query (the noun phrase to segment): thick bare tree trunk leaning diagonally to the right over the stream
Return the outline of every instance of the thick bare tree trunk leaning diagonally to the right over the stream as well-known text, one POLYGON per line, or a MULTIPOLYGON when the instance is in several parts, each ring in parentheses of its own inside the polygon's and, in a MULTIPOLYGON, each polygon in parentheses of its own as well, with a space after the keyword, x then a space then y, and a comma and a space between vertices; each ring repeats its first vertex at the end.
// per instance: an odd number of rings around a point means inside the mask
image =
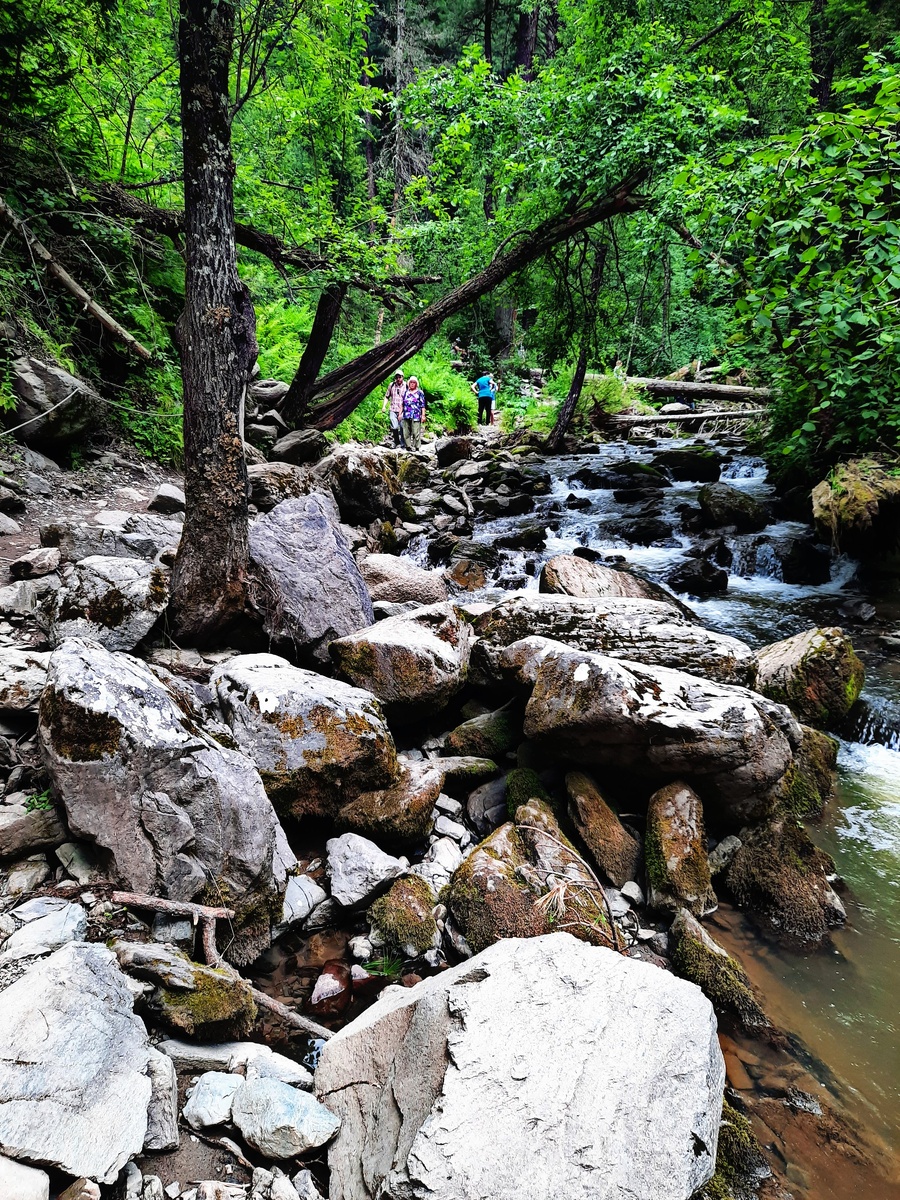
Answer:
POLYGON ((647 175, 648 169, 637 172, 602 199, 582 206, 570 205, 568 210, 557 214, 535 229, 514 234, 512 250, 496 254, 482 271, 428 305, 386 342, 373 346, 365 354, 323 376, 312 389, 312 398, 318 396, 330 398, 312 410, 307 424, 319 430, 332 430, 349 416, 373 388, 420 350, 448 317, 480 300, 510 275, 521 271, 568 238, 590 229, 601 221, 608 221, 618 214, 635 212, 643 208, 643 198, 635 192, 647 175))

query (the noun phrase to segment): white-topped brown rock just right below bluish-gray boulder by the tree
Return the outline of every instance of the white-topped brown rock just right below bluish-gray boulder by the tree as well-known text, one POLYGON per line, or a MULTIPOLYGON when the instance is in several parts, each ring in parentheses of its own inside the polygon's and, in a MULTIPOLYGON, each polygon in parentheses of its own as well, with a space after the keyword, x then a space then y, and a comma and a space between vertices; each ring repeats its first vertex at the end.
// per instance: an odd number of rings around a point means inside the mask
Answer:
POLYGON ((331 643, 338 672, 392 709, 416 715, 444 708, 466 682, 472 626, 452 605, 389 617, 331 643))

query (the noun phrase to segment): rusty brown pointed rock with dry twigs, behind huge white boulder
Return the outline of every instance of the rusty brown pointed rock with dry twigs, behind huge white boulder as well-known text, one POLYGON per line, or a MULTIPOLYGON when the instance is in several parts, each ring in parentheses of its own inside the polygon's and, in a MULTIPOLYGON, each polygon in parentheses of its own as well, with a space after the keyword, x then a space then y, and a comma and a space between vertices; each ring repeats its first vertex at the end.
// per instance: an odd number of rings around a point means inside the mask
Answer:
POLYGON ((552 810, 532 799, 490 834, 454 872, 448 908, 478 953, 503 937, 553 928, 608 946, 602 896, 552 810))

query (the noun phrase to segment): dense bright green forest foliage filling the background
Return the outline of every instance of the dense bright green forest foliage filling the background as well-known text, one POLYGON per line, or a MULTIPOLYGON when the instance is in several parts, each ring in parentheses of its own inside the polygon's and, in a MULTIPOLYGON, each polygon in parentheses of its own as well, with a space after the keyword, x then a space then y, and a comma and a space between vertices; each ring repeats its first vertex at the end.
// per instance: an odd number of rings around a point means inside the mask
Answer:
MULTIPOLYGON (((5 319, 102 379, 161 455, 180 436, 178 25, 164 0, 0 7, 5 319)), ((894 449, 899 62, 889 0, 240 0, 259 368, 294 380, 295 421, 366 434, 410 358, 440 420, 470 416, 451 344, 514 409, 529 367, 562 397, 582 348, 641 376, 700 360, 778 389, 793 460, 894 449)))

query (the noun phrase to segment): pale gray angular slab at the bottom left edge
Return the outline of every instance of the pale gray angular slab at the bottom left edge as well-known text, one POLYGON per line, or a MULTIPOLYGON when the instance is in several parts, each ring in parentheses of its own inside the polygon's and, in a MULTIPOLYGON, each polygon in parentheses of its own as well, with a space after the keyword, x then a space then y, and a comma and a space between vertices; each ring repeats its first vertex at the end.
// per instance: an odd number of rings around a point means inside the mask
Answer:
POLYGON ((112 1183, 144 1144, 149 1058, 110 950, 35 964, 0 992, 0 1153, 112 1183))

